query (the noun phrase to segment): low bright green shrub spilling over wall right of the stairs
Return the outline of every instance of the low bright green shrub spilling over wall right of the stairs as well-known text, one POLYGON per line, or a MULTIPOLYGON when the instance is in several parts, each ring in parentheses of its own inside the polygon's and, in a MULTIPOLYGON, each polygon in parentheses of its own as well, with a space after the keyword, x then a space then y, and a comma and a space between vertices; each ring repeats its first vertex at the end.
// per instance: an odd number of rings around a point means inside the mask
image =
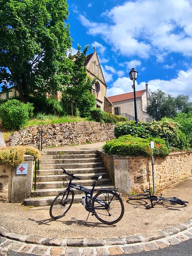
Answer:
MULTIPOLYGON (((142 139, 131 135, 120 136, 118 139, 107 141, 103 146, 108 155, 116 154, 118 156, 152 156, 150 141, 152 138, 142 139)), ((169 149, 162 139, 152 139, 155 142, 153 150, 154 156, 166 156, 169 149)))

